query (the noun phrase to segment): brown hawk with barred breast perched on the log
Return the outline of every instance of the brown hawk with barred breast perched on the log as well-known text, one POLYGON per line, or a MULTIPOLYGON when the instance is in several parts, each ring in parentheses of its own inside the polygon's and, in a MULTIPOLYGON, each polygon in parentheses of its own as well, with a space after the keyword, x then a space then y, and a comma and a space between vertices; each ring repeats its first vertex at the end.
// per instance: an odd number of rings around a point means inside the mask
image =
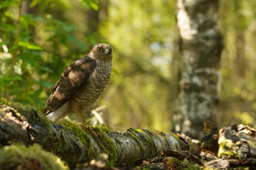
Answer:
POLYGON ((94 106, 112 71, 112 47, 100 43, 89 54, 72 62, 53 87, 43 113, 57 122, 67 115, 77 115, 86 125, 84 113, 94 106))

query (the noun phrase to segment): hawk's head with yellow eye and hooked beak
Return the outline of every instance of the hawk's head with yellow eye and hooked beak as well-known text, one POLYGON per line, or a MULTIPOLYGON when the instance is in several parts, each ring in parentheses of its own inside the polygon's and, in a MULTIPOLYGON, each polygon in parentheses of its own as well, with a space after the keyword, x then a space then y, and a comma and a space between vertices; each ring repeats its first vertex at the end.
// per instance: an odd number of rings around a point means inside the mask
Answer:
POLYGON ((104 62, 112 61, 112 47, 105 43, 100 43, 92 47, 90 51, 90 57, 95 60, 100 60, 104 62))

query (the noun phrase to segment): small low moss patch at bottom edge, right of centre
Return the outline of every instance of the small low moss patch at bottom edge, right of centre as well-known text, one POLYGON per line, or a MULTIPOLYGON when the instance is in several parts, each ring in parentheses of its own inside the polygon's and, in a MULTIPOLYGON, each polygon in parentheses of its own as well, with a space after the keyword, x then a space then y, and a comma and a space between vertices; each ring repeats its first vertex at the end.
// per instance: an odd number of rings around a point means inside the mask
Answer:
POLYGON ((200 166, 194 162, 189 162, 188 159, 180 161, 174 157, 166 157, 165 159, 166 169, 177 169, 177 170, 200 170, 200 166))

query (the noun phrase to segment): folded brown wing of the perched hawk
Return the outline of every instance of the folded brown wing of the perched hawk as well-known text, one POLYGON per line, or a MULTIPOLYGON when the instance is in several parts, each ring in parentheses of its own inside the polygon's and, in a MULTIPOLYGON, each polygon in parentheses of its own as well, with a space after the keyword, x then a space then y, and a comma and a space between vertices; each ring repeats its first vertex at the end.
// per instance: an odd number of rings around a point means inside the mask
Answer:
POLYGON ((90 72, 95 67, 96 61, 87 55, 71 63, 53 87, 43 113, 47 115, 69 101, 87 83, 90 72))

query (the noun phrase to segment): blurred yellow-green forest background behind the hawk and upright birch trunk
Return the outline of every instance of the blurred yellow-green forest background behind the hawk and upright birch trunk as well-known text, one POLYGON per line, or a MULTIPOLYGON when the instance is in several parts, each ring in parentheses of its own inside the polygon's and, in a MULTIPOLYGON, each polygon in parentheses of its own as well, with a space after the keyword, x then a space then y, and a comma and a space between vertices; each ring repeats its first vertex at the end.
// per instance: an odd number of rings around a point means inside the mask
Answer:
MULTIPOLYGON (((65 67, 97 42, 113 47, 105 123, 171 130, 178 96, 176 1, 0 0, 0 97, 43 109, 65 67)), ((220 0, 219 126, 256 120, 256 1, 220 0)), ((256 128, 256 127, 255 127, 256 128)))

